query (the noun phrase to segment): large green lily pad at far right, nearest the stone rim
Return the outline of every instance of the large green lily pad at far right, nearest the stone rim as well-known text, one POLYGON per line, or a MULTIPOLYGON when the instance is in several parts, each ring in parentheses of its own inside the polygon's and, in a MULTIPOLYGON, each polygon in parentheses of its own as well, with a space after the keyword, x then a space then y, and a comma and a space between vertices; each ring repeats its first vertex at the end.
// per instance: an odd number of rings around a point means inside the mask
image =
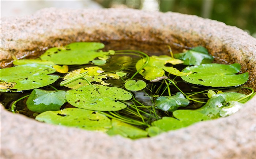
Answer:
POLYGON ((249 73, 245 72, 235 75, 241 69, 240 64, 201 64, 192 67, 186 67, 183 72, 192 72, 190 75, 181 76, 182 80, 201 86, 211 87, 232 87, 244 84, 249 73))

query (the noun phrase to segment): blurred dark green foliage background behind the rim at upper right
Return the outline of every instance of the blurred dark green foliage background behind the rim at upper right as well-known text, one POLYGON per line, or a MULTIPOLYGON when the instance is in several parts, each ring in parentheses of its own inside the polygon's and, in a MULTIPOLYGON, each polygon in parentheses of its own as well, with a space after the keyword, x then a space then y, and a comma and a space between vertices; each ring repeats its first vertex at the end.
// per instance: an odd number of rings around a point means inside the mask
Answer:
POLYGON ((256 37, 256 0, 94 0, 104 8, 179 12, 222 21, 256 37))

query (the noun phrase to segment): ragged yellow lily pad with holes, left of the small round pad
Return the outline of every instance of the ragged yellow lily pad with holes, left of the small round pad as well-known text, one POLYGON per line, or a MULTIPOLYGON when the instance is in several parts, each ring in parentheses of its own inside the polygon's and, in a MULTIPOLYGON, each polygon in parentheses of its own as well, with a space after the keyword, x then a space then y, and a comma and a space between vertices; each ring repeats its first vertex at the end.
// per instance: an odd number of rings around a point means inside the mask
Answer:
MULTIPOLYGON (((101 84, 104 86, 108 86, 109 83, 105 83, 104 81, 105 79, 108 79, 108 77, 111 77, 112 79, 119 79, 119 76, 116 75, 115 73, 105 73, 102 68, 96 66, 96 67, 85 67, 81 69, 76 69, 68 73, 64 77, 64 80, 70 79, 71 77, 74 77, 86 71, 88 71, 88 73, 84 76, 84 78, 86 78, 89 82, 93 82, 94 84, 101 84)), ((86 82, 86 80, 78 79, 74 82, 71 82, 65 85, 65 87, 77 89, 87 85, 89 84, 86 82)))

